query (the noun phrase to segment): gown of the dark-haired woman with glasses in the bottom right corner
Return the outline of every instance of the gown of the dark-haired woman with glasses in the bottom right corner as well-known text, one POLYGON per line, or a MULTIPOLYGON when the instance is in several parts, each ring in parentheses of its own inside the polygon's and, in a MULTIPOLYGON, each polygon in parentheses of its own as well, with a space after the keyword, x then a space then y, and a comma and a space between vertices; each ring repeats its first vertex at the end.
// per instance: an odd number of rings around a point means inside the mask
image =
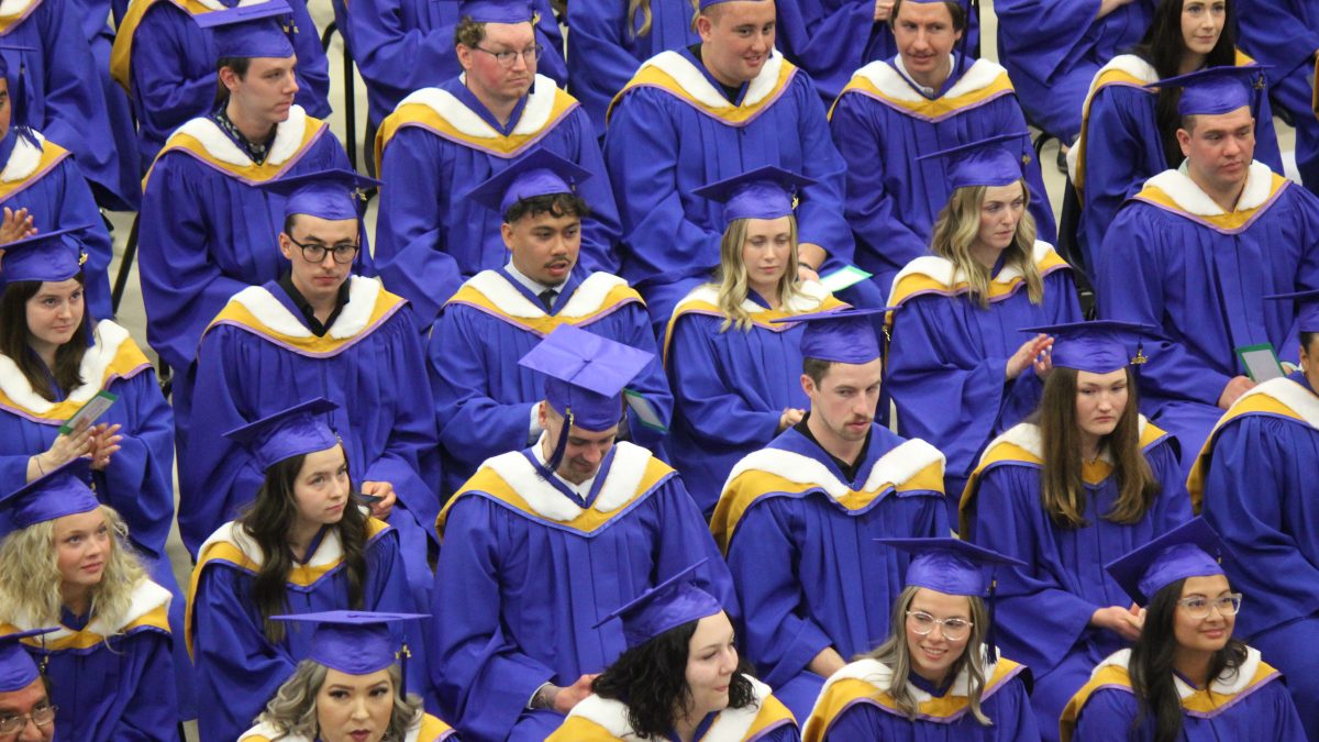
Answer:
MULTIPOLYGON (((1153 714, 1141 708, 1132 689, 1129 661, 1129 650, 1122 650, 1095 668, 1089 683, 1076 693, 1063 713, 1064 742, 1108 741, 1115 738, 1117 730, 1130 730, 1128 734, 1132 739, 1154 738, 1155 721, 1153 714)), ((1220 677, 1210 688, 1194 688, 1181 677, 1175 683, 1182 697, 1179 739, 1306 742, 1301 717, 1287 696, 1282 676, 1262 661, 1260 651, 1253 647, 1236 675, 1220 677)))

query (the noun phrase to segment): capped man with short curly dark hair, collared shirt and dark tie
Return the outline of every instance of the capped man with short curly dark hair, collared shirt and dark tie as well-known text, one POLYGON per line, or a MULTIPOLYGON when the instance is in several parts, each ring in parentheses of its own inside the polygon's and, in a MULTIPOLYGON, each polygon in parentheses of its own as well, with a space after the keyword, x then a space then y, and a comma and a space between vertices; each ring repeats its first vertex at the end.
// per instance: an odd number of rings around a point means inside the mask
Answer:
POLYGON ((509 260, 468 279, 445 304, 427 341, 445 495, 462 487, 480 462, 541 437, 545 383, 517 360, 559 325, 656 355, 633 388, 658 417, 642 420, 629 411, 628 437, 662 455, 673 395, 645 304, 623 279, 578 265, 582 222, 590 215, 579 191, 590 177, 547 149, 533 149, 468 194, 503 217, 509 260))

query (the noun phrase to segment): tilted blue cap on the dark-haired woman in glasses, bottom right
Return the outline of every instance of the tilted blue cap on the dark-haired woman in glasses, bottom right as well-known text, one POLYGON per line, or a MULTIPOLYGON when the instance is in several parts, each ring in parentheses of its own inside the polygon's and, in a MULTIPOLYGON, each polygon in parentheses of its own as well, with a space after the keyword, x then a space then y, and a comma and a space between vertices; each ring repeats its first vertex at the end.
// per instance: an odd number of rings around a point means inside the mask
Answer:
POLYGON ((1191 519, 1104 566, 1126 594, 1149 605, 1155 593, 1178 580, 1223 574, 1223 539, 1203 518, 1191 519))

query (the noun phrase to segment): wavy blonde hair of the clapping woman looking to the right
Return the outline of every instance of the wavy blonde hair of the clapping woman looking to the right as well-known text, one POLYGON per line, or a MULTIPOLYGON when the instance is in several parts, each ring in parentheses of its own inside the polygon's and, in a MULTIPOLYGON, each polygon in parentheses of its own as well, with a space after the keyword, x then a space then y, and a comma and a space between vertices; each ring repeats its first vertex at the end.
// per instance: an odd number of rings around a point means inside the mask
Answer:
MULTIPOLYGON (((1035 267, 1035 218, 1030 215, 1030 189, 1026 181, 1017 181, 1025 198, 1021 220, 1012 244, 1004 251, 1004 268, 1014 267, 1026 280, 1026 294, 1030 304, 1045 300, 1045 280, 1035 267)), ((952 191, 948 203, 939 211, 934 223, 934 239, 930 251, 952 263, 955 275, 966 279, 967 290, 981 309, 989 306, 989 269, 971 256, 971 244, 980 235, 980 207, 984 205, 985 186, 967 186, 952 191)))

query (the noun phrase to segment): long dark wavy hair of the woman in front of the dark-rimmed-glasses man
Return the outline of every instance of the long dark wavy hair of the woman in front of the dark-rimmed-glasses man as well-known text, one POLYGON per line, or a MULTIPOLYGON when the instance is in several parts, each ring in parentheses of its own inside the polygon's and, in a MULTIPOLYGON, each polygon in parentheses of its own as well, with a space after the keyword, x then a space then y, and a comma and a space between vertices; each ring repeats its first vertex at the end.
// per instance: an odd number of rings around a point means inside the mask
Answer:
MULTIPOLYGON (((293 485, 306 458, 305 454, 289 457, 266 469, 256 502, 237 520, 261 549, 262 562, 252 581, 252 598, 270 642, 284 640, 284 623, 270 621, 270 617, 289 611, 289 572, 293 570, 289 531, 298 516, 293 485)), ((367 516, 350 499, 343 508, 343 519, 331 525, 331 529, 339 533, 339 543, 343 545, 344 577, 348 581, 346 607, 361 610, 363 585, 367 581, 367 516)))

